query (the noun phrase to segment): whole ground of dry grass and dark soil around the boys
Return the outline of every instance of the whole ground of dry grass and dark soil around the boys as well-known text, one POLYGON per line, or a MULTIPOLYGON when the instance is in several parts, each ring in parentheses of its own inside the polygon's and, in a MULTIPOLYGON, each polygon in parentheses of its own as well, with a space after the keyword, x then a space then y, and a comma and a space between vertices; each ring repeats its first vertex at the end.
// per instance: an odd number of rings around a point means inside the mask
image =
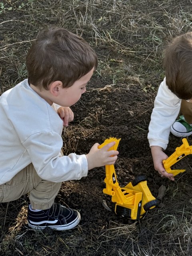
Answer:
MULTIPOLYGON (((117 216, 105 187, 104 168, 80 181, 64 182, 57 202, 80 210, 80 225, 56 232, 27 226, 28 196, 0 204, 3 256, 191 256, 191 157, 175 182, 154 171, 147 132, 158 85, 162 50, 172 37, 191 31, 190 0, 0 0, 0 94, 27 77, 25 56, 45 26, 68 28, 96 50, 99 66, 88 92, 73 106, 63 131, 64 154, 86 154, 109 136, 121 138, 115 164, 120 186, 145 175, 160 205, 135 222, 117 216), (106 201, 108 208, 102 202, 106 201)), ((189 144, 192 139, 188 138, 189 144)), ((181 140, 170 136, 168 155, 181 140)))

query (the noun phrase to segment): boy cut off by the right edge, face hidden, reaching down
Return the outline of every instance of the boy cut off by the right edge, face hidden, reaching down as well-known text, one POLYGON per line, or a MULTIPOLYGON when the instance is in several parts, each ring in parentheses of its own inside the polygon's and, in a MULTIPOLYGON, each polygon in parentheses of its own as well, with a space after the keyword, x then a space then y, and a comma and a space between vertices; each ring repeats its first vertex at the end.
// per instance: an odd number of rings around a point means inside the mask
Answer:
POLYGON ((178 137, 192 134, 192 32, 176 37, 164 56, 166 77, 160 84, 149 124, 148 140, 154 168, 161 176, 174 180, 162 161, 170 131, 178 137), (174 122, 179 114, 183 116, 174 122), (188 123, 189 124, 188 124, 188 123))

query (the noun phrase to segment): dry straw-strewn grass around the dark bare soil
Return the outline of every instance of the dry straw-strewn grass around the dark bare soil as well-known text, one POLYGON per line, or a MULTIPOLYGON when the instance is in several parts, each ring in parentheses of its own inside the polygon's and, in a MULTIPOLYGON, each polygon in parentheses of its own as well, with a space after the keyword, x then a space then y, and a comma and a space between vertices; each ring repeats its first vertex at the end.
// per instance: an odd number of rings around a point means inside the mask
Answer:
MULTIPOLYGON (((94 90, 123 92, 139 85, 147 93, 157 90, 164 77, 161 62, 166 42, 192 29, 191 1, 0 0, 0 94, 26 78, 27 48, 38 31, 50 25, 83 36, 96 50, 99 66, 94 79, 106 85, 98 84, 94 90)), ((100 120, 108 118, 101 107, 87 112, 78 126, 79 138, 95 136, 100 120)), ((66 153, 78 148, 75 129, 64 130, 66 153)), ((84 226, 63 233, 30 230, 26 197, 1 204, 0 255, 190 256, 192 200, 190 193, 182 192, 176 183, 168 188, 166 206, 144 217, 143 224, 110 221, 91 232, 84 226)))

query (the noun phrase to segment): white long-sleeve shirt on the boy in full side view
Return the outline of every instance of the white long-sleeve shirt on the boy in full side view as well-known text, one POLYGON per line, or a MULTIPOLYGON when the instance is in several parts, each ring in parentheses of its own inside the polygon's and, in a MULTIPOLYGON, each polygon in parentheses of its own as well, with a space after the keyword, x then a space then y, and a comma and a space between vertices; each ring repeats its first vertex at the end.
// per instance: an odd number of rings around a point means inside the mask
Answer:
POLYGON ((63 121, 24 80, 0 96, 0 184, 32 163, 44 180, 87 176, 85 155, 61 156, 63 121))

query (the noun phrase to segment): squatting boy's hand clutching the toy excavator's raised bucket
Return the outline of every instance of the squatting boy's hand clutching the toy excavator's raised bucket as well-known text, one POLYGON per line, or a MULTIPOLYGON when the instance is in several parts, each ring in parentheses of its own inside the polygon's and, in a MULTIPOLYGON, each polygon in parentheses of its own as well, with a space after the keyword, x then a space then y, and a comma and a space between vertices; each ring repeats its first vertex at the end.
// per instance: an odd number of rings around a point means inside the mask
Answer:
POLYGON ((119 154, 117 150, 109 150, 114 144, 115 142, 110 142, 100 149, 98 148, 98 143, 94 144, 90 149, 90 152, 86 155, 88 170, 95 167, 114 164, 117 160, 117 155, 119 154))

